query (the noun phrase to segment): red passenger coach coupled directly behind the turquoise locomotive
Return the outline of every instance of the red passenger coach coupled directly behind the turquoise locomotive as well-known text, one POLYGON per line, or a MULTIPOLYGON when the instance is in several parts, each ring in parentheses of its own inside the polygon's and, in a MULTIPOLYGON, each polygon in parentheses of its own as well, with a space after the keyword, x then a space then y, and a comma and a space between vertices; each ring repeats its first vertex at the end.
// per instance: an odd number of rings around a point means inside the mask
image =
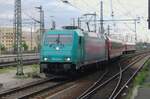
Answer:
POLYGON ((119 57, 123 54, 124 46, 122 41, 107 38, 109 59, 119 57))

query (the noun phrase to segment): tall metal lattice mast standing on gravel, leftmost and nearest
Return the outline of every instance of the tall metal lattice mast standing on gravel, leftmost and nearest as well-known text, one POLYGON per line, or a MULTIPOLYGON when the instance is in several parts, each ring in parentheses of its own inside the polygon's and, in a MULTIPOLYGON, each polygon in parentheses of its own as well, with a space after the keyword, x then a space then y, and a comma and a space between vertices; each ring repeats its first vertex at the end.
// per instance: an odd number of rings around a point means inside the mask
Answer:
POLYGON ((15 50, 17 52, 17 75, 23 75, 22 65, 22 15, 21 15, 21 0, 15 0, 14 14, 14 33, 15 33, 15 50))

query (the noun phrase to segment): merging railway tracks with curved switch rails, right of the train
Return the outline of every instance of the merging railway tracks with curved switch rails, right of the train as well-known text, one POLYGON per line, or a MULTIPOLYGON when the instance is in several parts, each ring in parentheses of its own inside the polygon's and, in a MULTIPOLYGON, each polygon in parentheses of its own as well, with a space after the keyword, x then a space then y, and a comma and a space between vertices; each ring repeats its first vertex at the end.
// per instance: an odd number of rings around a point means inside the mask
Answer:
POLYGON ((144 66, 142 64, 135 70, 131 70, 132 66, 139 62, 142 58, 146 55, 137 54, 137 57, 134 59, 133 62, 128 64, 128 66, 122 67, 119 63, 119 72, 109 77, 108 79, 103 80, 108 73, 106 73, 102 78, 98 79, 88 90, 86 90, 83 94, 81 94, 77 99, 93 99, 94 95, 98 93, 99 90, 102 90, 101 93, 105 93, 103 97, 99 97, 101 99, 116 99, 120 93, 123 91, 124 88, 127 87, 127 84, 136 76, 138 71, 144 66), (127 73, 130 73, 128 77, 126 77, 127 73), (125 79, 126 78, 126 79, 125 79), (113 87, 112 87, 113 86, 113 87), (106 90, 103 89, 110 89, 111 91, 105 92, 106 90))

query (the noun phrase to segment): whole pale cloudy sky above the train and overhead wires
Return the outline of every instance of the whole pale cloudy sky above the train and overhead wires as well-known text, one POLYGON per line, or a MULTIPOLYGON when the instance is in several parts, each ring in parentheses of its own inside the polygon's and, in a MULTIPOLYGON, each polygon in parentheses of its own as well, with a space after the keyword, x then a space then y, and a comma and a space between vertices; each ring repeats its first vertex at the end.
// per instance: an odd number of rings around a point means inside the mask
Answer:
MULTIPOLYGON (((100 13, 100 0, 68 0, 70 4, 64 4, 61 0, 22 0, 23 19, 33 17, 39 19, 39 12, 35 7, 42 5, 45 11, 45 24, 50 27, 51 19, 56 21, 56 26, 70 25, 72 18, 77 18, 85 13, 100 13), (54 16, 54 17, 51 17, 54 16)), ((111 18, 111 0, 104 2, 104 19, 111 18)), ((140 18, 137 23, 137 34, 139 41, 150 40, 150 32, 147 29, 147 8, 148 0, 112 0, 114 11, 113 19, 135 19, 140 18)), ((0 0, 0 25, 12 25, 14 15, 14 0, 0 0)), ((121 35, 135 35, 134 22, 115 22, 106 23, 112 25, 113 32, 119 32, 121 35), (123 33, 122 33, 123 31, 123 33)), ((133 38, 133 37, 132 37, 133 38)), ((149 41, 150 42, 150 41, 149 41)))

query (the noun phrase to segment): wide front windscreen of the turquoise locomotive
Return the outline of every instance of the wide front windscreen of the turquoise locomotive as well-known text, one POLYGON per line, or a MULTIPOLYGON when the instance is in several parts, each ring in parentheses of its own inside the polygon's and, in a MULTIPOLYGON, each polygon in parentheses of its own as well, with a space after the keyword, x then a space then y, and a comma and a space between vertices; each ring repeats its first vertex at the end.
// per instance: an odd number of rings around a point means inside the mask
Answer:
POLYGON ((45 44, 70 44, 73 41, 73 37, 68 34, 48 34, 44 40, 45 44))

